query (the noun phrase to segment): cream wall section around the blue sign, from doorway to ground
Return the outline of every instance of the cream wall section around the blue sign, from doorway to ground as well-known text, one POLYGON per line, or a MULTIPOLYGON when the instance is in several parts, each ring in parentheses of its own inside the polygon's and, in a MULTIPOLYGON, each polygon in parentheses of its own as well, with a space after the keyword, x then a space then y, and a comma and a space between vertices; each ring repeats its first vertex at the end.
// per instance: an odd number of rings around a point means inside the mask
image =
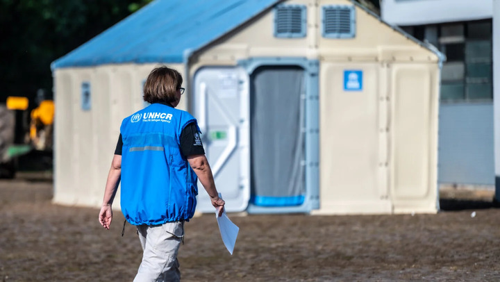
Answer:
MULTIPOLYGON (((390 213, 378 128, 381 67, 376 63, 320 64, 320 211, 390 213), (344 71, 363 71, 363 89, 344 90, 344 71)), ((384 151, 386 152, 386 151, 384 151)))

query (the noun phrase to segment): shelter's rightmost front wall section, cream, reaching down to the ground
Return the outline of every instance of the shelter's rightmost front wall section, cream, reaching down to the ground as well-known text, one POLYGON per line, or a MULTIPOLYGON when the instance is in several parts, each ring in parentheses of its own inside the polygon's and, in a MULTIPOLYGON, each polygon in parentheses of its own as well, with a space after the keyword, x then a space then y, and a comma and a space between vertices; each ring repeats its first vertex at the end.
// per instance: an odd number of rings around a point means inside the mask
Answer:
POLYGON ((435 65, 394 64, 392 101, 392 183, 395 212, 437 210, 437 105, 435 65))

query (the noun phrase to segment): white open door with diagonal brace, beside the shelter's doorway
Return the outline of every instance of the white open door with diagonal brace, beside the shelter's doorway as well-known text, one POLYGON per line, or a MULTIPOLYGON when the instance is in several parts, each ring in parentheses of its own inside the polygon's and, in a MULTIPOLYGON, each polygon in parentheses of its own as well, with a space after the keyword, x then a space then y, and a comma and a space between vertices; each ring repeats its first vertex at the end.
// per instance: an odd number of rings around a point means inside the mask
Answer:
MULTIPOLYGON (((247 209, 250 199, 249 76, 241 67, 206 67, 194 76, 194 117, 226 211, 247 209)), ((213 213, 198 183, 201 213, 213 213)))

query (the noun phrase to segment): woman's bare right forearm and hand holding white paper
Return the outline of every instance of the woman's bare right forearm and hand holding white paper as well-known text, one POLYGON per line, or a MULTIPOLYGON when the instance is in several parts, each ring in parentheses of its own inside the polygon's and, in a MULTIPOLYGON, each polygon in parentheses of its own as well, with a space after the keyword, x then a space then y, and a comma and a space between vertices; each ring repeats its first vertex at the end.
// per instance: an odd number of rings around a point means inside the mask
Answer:
POLYGON ((188 156, 188 163, 194 170, 194 173, 198 176, 201 185, 205 188, 208 196, 210 196, 210 201, 212 201, 212 205, 217 208, 219 212, 219 216, 222 215, 222 211, 224 210, 224 202, 223 199, 219 198, 219 193, 217 192, 217 188, 215 188, 215 181, 212 175, 212 169, 210 169, 210 165, 208 164, 208 160, 205 155, 192 155, 188 156))

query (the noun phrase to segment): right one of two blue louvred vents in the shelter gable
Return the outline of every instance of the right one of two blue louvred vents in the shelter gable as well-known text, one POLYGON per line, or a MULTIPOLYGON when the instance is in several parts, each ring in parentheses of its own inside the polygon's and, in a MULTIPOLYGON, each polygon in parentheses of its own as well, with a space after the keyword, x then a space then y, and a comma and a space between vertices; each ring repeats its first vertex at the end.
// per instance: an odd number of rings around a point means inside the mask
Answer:
POLYGON ((354 38, 356 36, 356 8, 346 5, 323 6, 324 38, 354 38))

